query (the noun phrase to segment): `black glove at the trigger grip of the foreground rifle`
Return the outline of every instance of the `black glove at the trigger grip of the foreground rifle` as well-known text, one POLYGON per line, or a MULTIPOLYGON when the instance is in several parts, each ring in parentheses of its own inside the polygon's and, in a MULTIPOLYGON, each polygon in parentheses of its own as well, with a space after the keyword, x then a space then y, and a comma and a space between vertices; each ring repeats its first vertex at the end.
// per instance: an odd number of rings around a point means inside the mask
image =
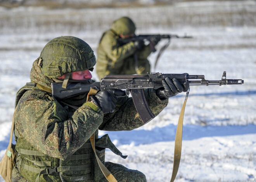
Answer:
POLYGON ((114 112, 117 96, 125 96, 125 92, 119 89, 100 90, 96 95, 90 97, 93 104, 99 106, 103 113, 114 112))

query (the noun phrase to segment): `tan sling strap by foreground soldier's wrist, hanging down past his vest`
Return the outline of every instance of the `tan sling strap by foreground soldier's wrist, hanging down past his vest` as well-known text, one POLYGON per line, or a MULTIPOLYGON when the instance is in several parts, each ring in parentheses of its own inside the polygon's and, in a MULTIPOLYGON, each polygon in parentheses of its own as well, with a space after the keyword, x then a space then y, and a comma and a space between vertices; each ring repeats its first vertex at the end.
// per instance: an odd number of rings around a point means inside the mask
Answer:
MULTIPOLYGON (((87 102, 89 100, 89 96, 90 95, 95 95, 97 94, 98 90, 95 90, 93 88, 90 89, 88 95, 87 95, 87 102)), ((96 151, 95 151, 95 135, 94 133, 92 134, 92 136, 90 137, 90 141, 91 141, 91 144, 92 144, 92 149, 95 153, 95 157, 97 159, 97 162, 98 162, 98 165, 100 167, 100 170, 102 171, 102 173, 104 174, 104 176, 106 177, 106 179, 109 181, 109 182, 117 182, 117 180, 115 179, 115 177, 111 174, 111 172, 109 172, 109 170, 105 167, 105 165, 100 161, 99 157, 97 156, 96 154, 96 151)))

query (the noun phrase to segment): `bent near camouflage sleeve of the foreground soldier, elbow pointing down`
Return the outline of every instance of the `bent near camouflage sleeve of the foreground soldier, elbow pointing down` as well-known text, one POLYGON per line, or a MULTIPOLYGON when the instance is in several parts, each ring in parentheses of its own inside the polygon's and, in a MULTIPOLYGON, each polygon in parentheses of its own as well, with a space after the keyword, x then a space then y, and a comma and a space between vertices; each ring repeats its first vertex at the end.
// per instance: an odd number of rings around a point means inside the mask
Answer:
POLYGON ((65 158, 78 150, 102 121, 101 109, 92 103, 83 104, 68 117, 54 97, 27 91, 17 105, 15 134, 46 155, 65 158))

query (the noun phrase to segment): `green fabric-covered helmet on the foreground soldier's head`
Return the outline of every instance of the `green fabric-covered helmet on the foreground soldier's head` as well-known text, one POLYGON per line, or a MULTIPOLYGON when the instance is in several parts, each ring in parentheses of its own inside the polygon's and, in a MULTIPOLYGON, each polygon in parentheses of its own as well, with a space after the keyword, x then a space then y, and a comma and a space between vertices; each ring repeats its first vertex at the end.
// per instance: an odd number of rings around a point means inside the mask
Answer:
POLYGON ((61 36, 48 42, 38 63, 43 74, 49 78, 91 70, 95 64, 92 48, 85 41, 72 36, 61 36))

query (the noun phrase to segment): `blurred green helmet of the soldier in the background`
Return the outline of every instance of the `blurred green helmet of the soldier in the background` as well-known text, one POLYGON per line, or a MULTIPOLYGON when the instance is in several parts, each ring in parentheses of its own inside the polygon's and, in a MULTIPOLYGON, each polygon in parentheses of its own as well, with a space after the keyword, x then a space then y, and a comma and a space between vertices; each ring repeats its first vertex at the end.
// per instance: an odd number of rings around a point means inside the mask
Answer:
POLYGON ((121 17, 115 20, 111 26, 111 30, 116 32, 118 35, 123 34, 124 36, 133 35, 135 33, 135 24, 128 17, 121 17))

